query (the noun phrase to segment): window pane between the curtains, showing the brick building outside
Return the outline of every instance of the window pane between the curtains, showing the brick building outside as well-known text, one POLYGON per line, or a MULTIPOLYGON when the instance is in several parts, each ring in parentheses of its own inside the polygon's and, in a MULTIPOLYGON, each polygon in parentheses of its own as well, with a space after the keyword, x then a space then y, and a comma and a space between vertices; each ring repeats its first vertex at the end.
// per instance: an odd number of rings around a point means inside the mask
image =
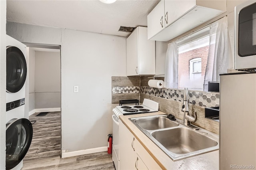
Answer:
POLYGON ((209 28, 178 42, 178 89, 204 90, 209 44, 209 28))

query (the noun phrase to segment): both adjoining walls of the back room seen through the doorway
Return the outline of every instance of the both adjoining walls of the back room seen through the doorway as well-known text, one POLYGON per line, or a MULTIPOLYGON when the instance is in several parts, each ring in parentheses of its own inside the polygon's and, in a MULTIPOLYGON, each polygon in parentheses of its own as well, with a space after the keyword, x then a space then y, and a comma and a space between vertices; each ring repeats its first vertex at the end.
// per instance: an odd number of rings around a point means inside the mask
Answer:
POLYGON ((60 104, 60 52, 35 51, 27 47, 29 113, 48 111, 60 104))

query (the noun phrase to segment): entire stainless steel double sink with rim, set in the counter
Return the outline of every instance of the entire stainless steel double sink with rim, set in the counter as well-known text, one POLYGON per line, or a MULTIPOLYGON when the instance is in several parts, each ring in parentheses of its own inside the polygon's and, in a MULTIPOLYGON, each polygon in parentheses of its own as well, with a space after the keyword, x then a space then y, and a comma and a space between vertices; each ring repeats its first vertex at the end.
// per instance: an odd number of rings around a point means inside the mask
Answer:
POLYGON ((129 120, 174 161, 219 149, 218 135, 201 128, 186 127, 171 121, 167 115, 129 120))

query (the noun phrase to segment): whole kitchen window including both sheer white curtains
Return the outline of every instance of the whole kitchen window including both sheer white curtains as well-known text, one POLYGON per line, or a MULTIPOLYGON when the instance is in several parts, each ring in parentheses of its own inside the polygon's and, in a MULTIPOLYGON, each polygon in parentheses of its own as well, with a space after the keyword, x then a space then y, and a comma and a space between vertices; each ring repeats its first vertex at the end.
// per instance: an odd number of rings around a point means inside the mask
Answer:
POLYGON ((208 91, 228 68, 227 17, 168 43, 164 87, 208 91), (216 43, 218 42, 218 43, 216 43))

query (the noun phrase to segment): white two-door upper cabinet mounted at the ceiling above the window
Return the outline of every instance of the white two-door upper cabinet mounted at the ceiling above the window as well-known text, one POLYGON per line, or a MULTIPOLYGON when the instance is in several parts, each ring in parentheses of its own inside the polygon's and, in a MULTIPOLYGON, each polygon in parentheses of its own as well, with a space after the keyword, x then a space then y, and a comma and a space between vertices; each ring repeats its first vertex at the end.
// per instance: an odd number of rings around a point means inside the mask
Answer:
POLYGON ((148 14, 148 40, 167 42, 224 12, 226 0, 161 0, 148 14))

